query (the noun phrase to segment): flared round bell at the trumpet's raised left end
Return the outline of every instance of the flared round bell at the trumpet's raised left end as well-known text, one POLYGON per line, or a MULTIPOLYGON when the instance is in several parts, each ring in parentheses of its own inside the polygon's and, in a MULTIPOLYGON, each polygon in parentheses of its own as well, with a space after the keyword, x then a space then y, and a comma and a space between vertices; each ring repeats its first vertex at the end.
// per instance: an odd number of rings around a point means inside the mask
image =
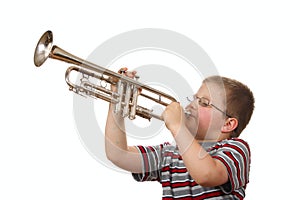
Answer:
POLYGON ((53 34, 46 31, 38 41, 34 51, 34 65, 40 67, 49 57, 52 49, 53 34))

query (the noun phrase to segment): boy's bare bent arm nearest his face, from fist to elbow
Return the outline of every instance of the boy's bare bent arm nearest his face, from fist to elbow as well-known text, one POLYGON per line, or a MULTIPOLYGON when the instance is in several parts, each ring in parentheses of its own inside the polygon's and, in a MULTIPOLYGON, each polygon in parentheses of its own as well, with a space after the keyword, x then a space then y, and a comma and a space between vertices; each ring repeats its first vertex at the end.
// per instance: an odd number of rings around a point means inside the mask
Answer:
POLYGON ((184 164, 192 178, 201 186, 220 186, 228 181, 224 164, 212 158, 195 140, 184 125, 183 111, 178 103, 172 103, 163 113, 167 128, 173 134, 184 164))

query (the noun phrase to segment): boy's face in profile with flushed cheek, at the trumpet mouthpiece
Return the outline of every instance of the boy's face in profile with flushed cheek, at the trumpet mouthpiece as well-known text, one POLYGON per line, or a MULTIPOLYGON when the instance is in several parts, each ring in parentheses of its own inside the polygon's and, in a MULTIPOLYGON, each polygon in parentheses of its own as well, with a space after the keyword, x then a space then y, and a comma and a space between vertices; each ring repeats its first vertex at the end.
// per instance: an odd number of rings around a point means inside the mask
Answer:
POLYGON ((221 128, 225 122, 224 114, 212 106, 201 106, 197 98, 205 97, 212 104, 225 110, 224 90, 221 90, 215 84, 202 84, 195 94, 195 100, 192 101, 186 109, 191 115, 186 118, 185 124, 192 134, 195 134, 197 140, 215 140, 221 134, 221 128))

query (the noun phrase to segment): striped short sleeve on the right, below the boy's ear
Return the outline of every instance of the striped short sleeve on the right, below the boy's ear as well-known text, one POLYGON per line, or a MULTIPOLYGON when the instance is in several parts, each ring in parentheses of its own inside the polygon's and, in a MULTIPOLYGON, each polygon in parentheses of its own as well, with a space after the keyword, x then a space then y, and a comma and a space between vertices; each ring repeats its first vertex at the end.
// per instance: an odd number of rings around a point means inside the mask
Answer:
POLYGON ((228 173, 229 181, 220 186, 223 192, 231 193, 241 187, 246 187, 249 182, 250 149, 248 144, 241 139, 226 140, 217 144, 213 158, 221 161, 228 173))

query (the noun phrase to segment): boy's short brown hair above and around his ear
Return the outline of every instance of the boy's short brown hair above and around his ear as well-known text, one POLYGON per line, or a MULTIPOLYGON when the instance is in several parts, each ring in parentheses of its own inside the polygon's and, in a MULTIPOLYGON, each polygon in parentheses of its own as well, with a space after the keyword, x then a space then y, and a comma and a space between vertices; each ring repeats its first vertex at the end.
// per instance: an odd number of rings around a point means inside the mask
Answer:
POLYGON ((238 120, 231 137, 238 137, 250 121, 254 110, 254 96, 245 84, 222 76, 211 76, 203 83, 216 83, 226 93, 226 113, 238 120))

